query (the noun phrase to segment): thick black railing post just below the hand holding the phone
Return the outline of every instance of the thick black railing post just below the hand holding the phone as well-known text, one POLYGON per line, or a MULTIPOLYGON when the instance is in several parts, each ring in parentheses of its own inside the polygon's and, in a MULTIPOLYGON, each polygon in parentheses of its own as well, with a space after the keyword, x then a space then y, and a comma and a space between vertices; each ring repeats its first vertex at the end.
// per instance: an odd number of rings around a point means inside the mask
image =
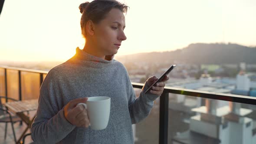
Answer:
POLYGON ((168 142, 168 104, 169 93, 163 92, 163 94, 160 96, 159 144, 167 144, 168 142))

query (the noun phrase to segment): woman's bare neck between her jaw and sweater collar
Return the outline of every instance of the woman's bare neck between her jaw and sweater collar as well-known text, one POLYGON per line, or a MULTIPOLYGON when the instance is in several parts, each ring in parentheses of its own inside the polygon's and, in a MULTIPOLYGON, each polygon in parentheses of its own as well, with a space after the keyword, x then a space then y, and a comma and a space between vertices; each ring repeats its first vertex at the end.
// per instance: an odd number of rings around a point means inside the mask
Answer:
POLYGON ((95 47, 95 45, 93 45, 89 42, 85 42, 85 46, 84 46, 83 51, 89 53, 92 56, 97 56, 101 59, 105 59, 105 55, 102 54, 100 52, 100 50, 98 50, 97 47, 95 47))

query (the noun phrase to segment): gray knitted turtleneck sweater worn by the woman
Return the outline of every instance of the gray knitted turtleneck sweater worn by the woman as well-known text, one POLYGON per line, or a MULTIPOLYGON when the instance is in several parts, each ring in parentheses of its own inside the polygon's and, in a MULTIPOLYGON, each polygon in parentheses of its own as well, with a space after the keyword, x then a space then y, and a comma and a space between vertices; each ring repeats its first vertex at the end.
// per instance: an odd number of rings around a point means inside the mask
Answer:
POLYGON ((145 94, 147 88, 145 84, 136 99, 124 65, 77 48, 75 56, 49 71, 40 88, 32 139, 38 144, 132 144, 131 124, 146 118, 158 98, 145 94), (63 107, 73 99, 93 96, 111 97, 107 128, 95 131, 69 123, 63 107))

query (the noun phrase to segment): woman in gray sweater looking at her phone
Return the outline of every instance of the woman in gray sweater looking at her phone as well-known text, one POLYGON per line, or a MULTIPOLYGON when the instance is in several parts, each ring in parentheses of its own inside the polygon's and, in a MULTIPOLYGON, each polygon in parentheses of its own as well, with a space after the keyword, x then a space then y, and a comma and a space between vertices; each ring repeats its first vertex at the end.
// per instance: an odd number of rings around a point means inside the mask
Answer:
MULTIPOLYGON (((51 69, 39 96, 39 107, 32 124, 32 139, 42 144, 131 144, 131 124, 147 117, 153 101, 163 92, 159 82, 150 93, 145 90, 157 78, 149 78, 139 98, 124 65, 113 59, 126 39, 127 6, 115 0, 94 0, 79 6, 85 46, 76 49, 68 61, 51 69), (95 131, 89 127, 87 111, 78 103, 88 97, 111 97, 108 126, 95 131)), ((166 76, 164 81, 169 78, 166 76)))

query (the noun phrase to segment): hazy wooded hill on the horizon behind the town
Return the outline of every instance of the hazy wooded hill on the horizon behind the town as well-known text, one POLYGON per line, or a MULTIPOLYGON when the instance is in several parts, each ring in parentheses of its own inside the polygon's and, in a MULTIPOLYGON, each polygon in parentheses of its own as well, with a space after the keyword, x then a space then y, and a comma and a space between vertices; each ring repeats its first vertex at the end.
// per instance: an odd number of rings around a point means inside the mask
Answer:
POLYGON ((256 47, 233 43, 194 43, 183 49, 116 57, 121 62, 185 62, 191 64, 256 64, 256 47))

